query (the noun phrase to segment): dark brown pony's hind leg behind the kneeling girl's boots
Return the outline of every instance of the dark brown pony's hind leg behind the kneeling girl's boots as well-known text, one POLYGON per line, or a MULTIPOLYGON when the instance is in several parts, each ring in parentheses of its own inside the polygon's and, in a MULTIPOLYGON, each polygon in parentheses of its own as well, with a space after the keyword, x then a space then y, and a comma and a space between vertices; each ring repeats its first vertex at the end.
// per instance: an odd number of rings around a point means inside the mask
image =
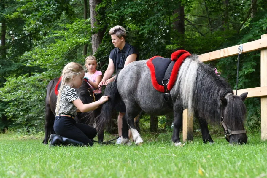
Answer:
POLYGON ((46 107, 46 113, 45 113, 45 138, 43 140, 43 144, 48 143, 48 138, 50 134, 54 134, 54 121, 55 121, 55 115, 51 111, 50 107, 46 107))

